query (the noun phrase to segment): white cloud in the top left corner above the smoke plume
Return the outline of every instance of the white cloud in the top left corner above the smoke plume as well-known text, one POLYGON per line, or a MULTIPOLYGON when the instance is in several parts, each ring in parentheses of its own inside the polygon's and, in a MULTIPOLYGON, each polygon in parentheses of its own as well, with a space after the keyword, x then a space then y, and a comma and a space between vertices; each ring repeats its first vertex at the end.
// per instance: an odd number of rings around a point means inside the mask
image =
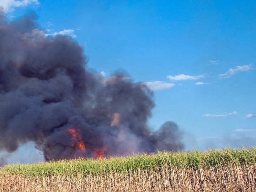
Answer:
POLYGON ((25 7, 32 3, 39 4, 38 0, 0 0, 0 6, 4 8, 5 12, 12 11, 13 7, 25 7))

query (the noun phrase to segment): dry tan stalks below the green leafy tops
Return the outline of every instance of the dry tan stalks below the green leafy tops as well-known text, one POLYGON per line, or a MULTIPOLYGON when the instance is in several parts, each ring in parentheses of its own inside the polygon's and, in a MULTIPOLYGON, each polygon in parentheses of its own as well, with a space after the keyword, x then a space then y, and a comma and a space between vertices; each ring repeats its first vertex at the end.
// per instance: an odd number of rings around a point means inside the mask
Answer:
POLYGON ((254 192, 256 165, 162 167, 81 176, 1 175, 1 192, 254 192))

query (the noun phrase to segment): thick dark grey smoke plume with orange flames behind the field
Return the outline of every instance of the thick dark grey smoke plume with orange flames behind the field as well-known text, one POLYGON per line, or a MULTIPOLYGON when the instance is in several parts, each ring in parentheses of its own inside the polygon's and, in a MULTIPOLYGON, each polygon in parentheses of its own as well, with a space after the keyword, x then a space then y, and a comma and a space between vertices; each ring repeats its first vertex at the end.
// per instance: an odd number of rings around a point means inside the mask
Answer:
POLYGON ((46 36, 35 20, 9 22, 0 11, 0 150, 33 141, 57 160, 184 148, 174 122, 148 127, 154 102, 146 85, 122 72, 88 72, 78 43, 46 36))

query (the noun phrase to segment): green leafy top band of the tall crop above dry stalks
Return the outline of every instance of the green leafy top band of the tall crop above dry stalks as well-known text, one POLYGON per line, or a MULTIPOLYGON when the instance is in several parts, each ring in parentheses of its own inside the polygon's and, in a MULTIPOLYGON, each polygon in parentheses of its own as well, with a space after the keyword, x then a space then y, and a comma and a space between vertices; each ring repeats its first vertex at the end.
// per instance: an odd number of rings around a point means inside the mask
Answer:
POLYGON ((212 149, 207 152, 159 152, 156 154, 141 154, 127 157, 112 157, 110 159, 75 159, 60 160, 32 165, 6 165, 0 169, 0 175, 23 175, 26 177, 49 175, 91 175, 108 172, 127 173, 129 171, 157 171, 162 167, 177 169, 208 169, 216 165, 248 165, 256 164, 256 148, 223 150, 212 149))

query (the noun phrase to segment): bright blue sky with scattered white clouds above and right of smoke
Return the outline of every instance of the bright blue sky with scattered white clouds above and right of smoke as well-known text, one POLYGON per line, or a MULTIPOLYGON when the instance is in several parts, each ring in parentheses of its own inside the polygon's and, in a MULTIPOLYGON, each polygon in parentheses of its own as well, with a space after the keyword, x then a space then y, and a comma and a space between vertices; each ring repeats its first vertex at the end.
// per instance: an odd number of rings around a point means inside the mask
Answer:
POLYGON ((3 0, 84 48, 88 67, 125 70, 154 90, 153 129, 184 130, 187 150, 256 145, 256 1, 3 0))

